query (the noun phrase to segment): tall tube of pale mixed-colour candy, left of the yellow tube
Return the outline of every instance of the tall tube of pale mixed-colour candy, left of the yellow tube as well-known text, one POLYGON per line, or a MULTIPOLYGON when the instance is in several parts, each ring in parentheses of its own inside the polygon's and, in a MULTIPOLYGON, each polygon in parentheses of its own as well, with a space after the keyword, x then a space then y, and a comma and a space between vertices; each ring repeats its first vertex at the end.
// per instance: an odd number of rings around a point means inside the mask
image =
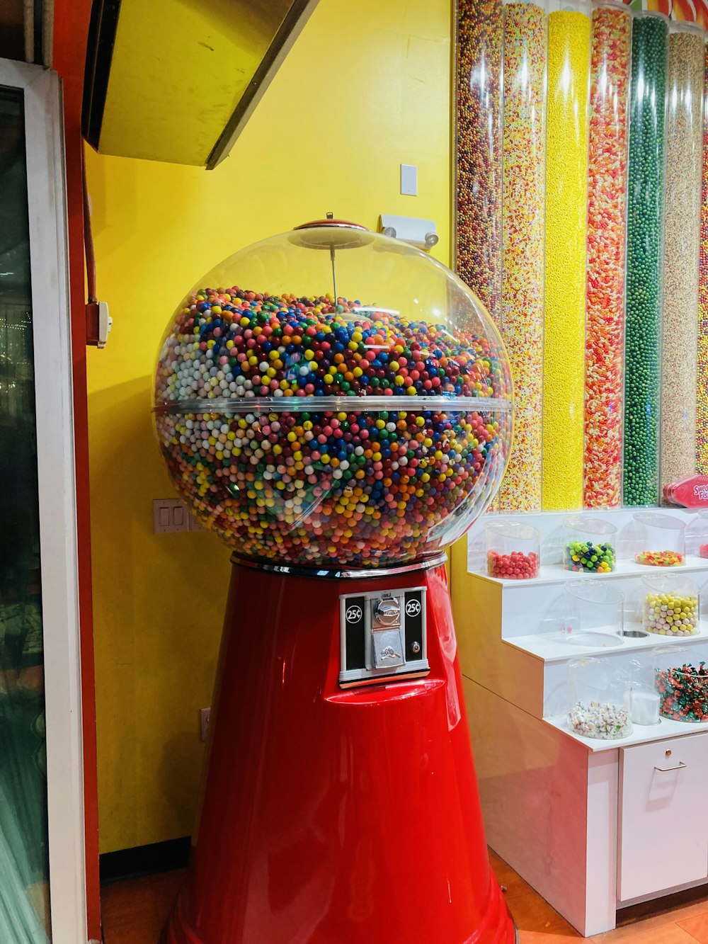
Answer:
POLYGON ((515 413, 497 507, 514 512, 541 508, 547 58, 545 9, 505 4, 501 333, 515 413))

